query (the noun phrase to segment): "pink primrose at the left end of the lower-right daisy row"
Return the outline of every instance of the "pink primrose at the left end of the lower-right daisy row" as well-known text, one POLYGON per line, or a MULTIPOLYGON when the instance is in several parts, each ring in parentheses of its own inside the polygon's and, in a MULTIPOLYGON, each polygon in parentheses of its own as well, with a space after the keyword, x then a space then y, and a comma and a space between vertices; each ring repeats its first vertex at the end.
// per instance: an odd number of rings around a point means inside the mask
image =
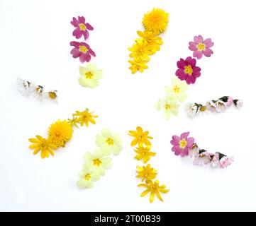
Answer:
POLYGON ((188 136, 189 132, 182 133, 180 137, 176 135, 172 136, 172 151, 174 152, 175 155, 182 155, 182 157, 184 157, 185 155, 189 155, 189 150, 194 145, 194 138, 188 138, 188 136))

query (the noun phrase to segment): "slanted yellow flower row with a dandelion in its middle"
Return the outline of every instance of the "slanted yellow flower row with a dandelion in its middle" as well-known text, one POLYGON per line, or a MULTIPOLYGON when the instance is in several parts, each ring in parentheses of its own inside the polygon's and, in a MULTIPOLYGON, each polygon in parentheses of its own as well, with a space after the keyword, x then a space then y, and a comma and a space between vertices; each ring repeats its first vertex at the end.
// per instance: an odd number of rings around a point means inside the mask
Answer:
POLYGON ((89 109, 85 109, 84 112, 75 112, 72 114, 72 119, 67 119, 61 121, 60 119, 55 121, 55 123, 51 124, 48 129, 48 138, 43 138, 39 135, 35 136, 35 138, 29 138, 32 144, 29 146, 30 149, 33 149, 33 154, 37 154, 41 152, 41 157, 49 157, 50 155, 54 155, 54 151, 57 148, 65 148, 65 145, 73 135, 73 127, 80 124, 83 126, 89 126, 89 122, 91 124, 95 124, 94 118, 98 116, 93 115, 94 112, 89 112, 89 109))

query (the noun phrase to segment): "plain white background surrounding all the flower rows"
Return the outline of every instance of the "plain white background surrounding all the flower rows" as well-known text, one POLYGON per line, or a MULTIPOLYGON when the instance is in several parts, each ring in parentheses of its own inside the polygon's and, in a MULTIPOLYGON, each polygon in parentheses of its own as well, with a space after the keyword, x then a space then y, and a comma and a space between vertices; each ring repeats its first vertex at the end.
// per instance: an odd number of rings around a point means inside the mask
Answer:
MULTIPOLYGON (((256 210, 255 153, 255 1, 11 1, 0 0, 1 148, 0 210, 77 211, 230 211, 256 210), (131 75, 128 50, 142 30, 143 14, 153 7, 169 12, 169 28, 160 52, 145 73, 131 75), (69 54, 73 16, 94 26, 88 43, 104 71, 99 87, 78 83, 79 63, 69 54), (211 37, 214 54, 198 61, 201 77, 189 86, 187 102, 223 95, 242 98, 243 109, 189 119, 180 108, 170 121, 154 109, 177 70, 191 56, 194 35, 211 37), (23 97, 16 77, 57 89, 58 104, 23 97), (72 141, 55 157, 42 160, 28 149, 28 138, 46 136, 48 126, 88 107, 96 125, 75 129, 72 141), (150 160, 158 179, 170 189, 164 203, 140 198, 127 133, 136 126, 154 137, 150 160), (96 148, 95 136, 110 128, 123 136, 123 152, 94 189, 76 186, 82 156, 96 148), (171 136, 190 131, 201 148, 234 155, 227 169, 195 167, 175 156, 171 136)), ((85 65, 85 64, 84 64, 85 65)))

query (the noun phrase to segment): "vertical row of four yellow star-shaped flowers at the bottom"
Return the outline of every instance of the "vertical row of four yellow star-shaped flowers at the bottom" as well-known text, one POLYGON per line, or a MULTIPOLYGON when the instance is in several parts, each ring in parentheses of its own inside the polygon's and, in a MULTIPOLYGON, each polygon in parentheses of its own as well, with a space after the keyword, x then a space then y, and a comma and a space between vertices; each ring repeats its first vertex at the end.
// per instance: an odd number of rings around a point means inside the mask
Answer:
MULTIPOLYGON (((156 153, 150 151, 151 143, 149 140, 152 139, 152 137, 148 136, 148 134, 149 132, 143 131, 140 126, 136 128, 136 131, 129 131, 128 133, 129 136, 133 137, 133 141, 130 145, 132 147, 138 145, 134 150, 137 154, 135 155, 135 159, 143 160, 144 163, 147 163, 150 160, 150 157, 156 155, 156 153)), ((145 182, 145 184, 138 184, 138 186, 146 188, 140 196, 143 197, 150 193, 150 203, 154 201, 155 195, 160 201, 163 201, 160 193, 167 193, 169 189, 166 189, 165 184, 162 184, 161 186, 159 185, 159 181, 156 179, 157 170, 148 164, 145 166, 137 166, 136 172, 138 173, 136 177, 141 179, 142 182, 145 182)))

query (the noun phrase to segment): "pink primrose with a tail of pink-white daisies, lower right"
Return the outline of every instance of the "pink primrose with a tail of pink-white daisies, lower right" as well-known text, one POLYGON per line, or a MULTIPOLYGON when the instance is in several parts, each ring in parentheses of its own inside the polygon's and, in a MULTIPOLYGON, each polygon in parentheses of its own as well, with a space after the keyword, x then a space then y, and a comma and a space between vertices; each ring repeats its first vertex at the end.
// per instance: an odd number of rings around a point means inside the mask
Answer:
POLYGON ((182 157, 190 155, 194 157, 194 165, 210 164, 212 167, 225 168, 233 162, 233 157, 228 157, 218 152, 209 153, 207 150, 199 148, 194 143, 194 138, 189 137, 189 132, 182 133, 181 136, 172 136, 171 144, 175 155, 181 155, 182 157))

